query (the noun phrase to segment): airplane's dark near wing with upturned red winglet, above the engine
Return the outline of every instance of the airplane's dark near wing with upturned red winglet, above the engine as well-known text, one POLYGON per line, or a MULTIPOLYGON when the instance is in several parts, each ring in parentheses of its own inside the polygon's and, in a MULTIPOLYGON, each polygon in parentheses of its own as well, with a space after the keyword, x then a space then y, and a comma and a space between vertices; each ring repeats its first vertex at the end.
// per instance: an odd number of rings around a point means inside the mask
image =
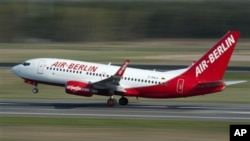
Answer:
POLYGON ((125 60, 123 65, 118 69, 118 71, 110 76, 109 78, 103 79, 101 81, 92 83, 92 87, 95 89, 108 89, 109 91, 120 91, 125 92, 125 89, 120 86, 119 82, 129 64, 129 60, 125 60))

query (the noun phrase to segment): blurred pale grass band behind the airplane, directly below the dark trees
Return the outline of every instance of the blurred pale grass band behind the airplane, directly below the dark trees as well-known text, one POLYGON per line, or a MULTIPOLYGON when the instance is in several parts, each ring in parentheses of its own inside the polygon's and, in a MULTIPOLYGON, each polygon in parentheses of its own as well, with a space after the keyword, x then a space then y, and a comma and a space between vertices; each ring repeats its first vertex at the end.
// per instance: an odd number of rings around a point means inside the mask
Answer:
MULTIPOLYGON (((68 58, 101 63, 189 65, 204 54, 216 40, 171 39, 137 42, 90 43, 1 43, 0 62, 23 62, 30 58, 68 58), (11 56, 11 57, 10 57, 11 56), (187 56, 187 57, 185 57, 187 56)), ((250 42, 241 40, 231 61, 234 66, 249 66, 250 42)))

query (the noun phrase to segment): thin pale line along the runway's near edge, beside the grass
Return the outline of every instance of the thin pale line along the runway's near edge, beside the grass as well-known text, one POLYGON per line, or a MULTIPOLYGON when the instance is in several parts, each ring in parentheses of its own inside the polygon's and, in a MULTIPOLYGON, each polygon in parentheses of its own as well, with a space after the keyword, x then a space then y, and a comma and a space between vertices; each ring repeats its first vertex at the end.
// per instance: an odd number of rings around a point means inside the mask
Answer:
POLYGON ((115 114, 73 114, 73 113, 27 113, 0 112, 1 115, 40 115, 40 116, 88 116, 88 117, 129 117, 129 118, 173 118, 173 119, 220 119, 220 120, 250 120, 244 117, 202 117, 202 116, 161 116, 161 115, 115 115, 115 114))

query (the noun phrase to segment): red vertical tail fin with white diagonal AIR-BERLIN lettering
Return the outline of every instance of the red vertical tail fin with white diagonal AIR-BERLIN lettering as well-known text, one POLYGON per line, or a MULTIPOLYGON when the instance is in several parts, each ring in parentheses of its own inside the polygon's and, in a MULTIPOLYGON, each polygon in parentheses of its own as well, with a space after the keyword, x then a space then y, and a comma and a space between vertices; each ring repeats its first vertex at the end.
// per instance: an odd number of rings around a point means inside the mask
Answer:
POLYGON ((239 36, 238 31, 227 32, 184 75, 195 77, 199 81, 221 80, 239 36))

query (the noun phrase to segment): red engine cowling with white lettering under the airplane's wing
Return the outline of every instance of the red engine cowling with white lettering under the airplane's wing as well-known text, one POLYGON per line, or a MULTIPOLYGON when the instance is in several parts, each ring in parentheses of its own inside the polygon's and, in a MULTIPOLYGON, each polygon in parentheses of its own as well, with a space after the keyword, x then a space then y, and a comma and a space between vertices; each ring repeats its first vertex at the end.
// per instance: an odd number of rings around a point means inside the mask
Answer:
POLYGON ((79 81, 68 81, 65 85, 65 91, 69 94, 91 97, 91 87, 87 83, 79 81))

